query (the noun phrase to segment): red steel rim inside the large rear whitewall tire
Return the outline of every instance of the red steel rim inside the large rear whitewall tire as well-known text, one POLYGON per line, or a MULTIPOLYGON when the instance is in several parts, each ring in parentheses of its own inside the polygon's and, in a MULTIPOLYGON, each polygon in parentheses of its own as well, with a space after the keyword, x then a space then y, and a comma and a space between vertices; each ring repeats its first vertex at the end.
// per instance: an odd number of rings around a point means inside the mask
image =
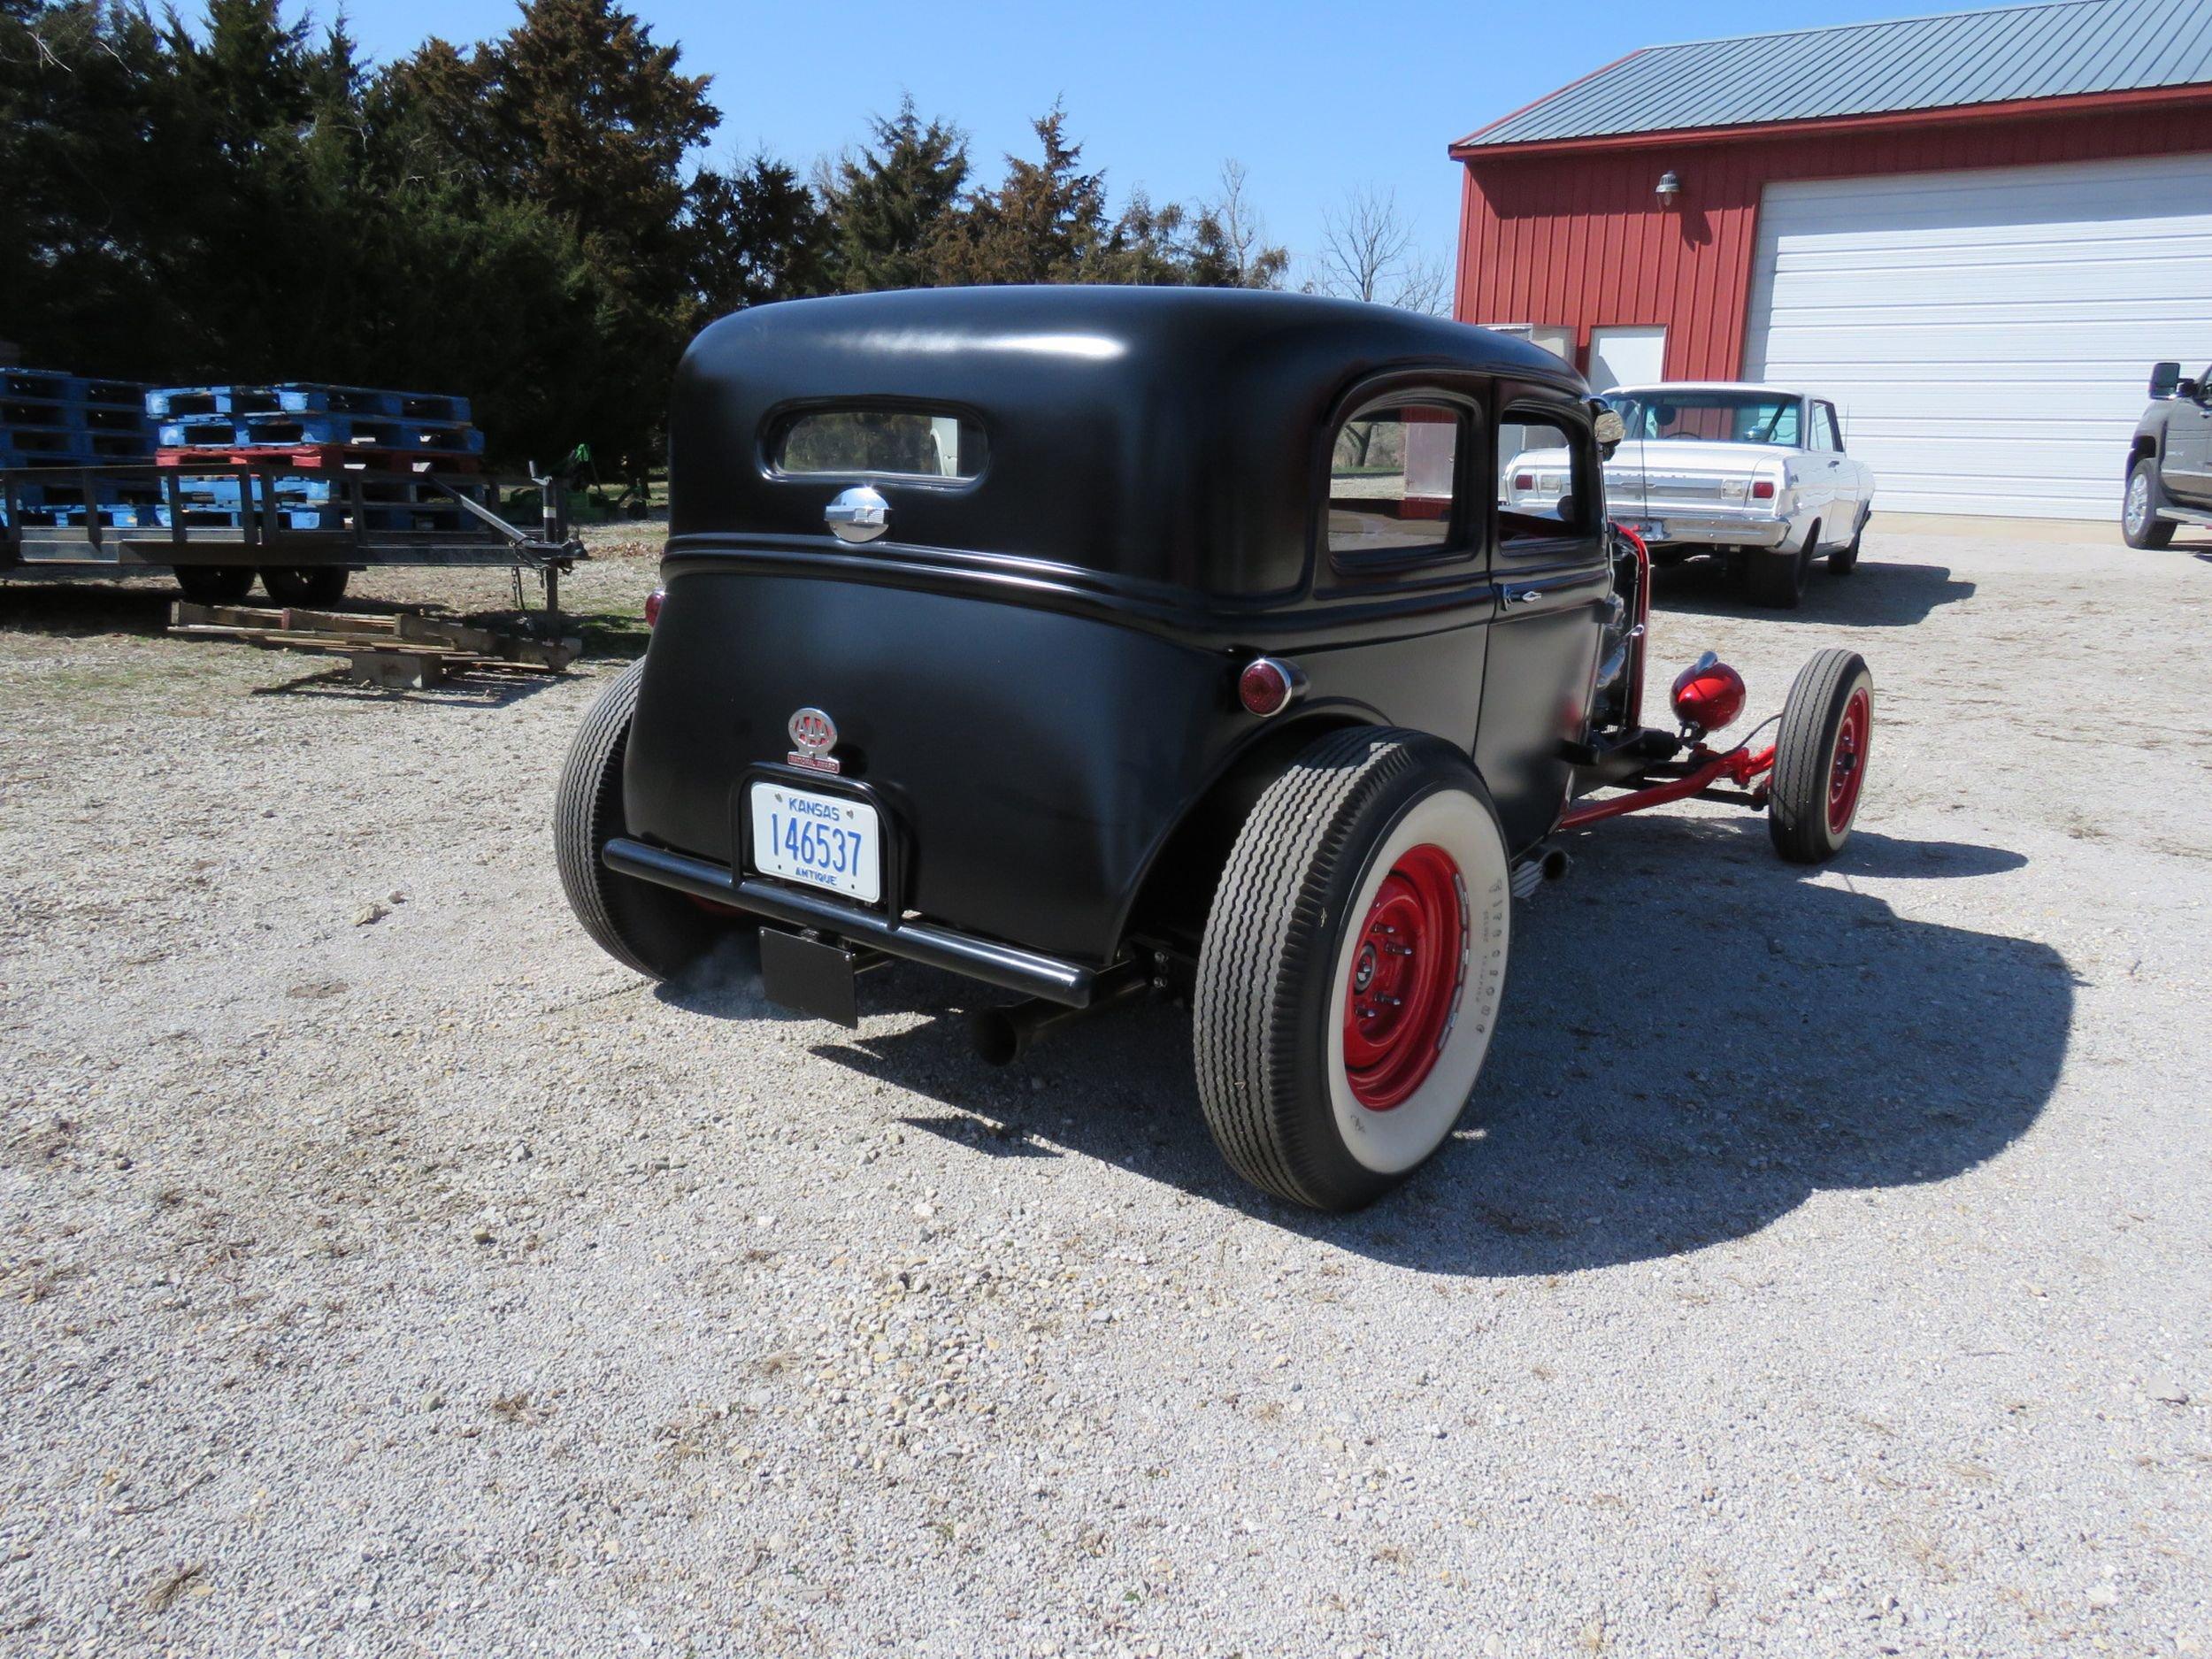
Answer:
POLYGON ((1345 989, 1345 1082, 1376 1113, 1405 1102, 1436 1068, 1467 984, 1467 891, 1438 845, 1391 865, 1360 925, 1345 989))

